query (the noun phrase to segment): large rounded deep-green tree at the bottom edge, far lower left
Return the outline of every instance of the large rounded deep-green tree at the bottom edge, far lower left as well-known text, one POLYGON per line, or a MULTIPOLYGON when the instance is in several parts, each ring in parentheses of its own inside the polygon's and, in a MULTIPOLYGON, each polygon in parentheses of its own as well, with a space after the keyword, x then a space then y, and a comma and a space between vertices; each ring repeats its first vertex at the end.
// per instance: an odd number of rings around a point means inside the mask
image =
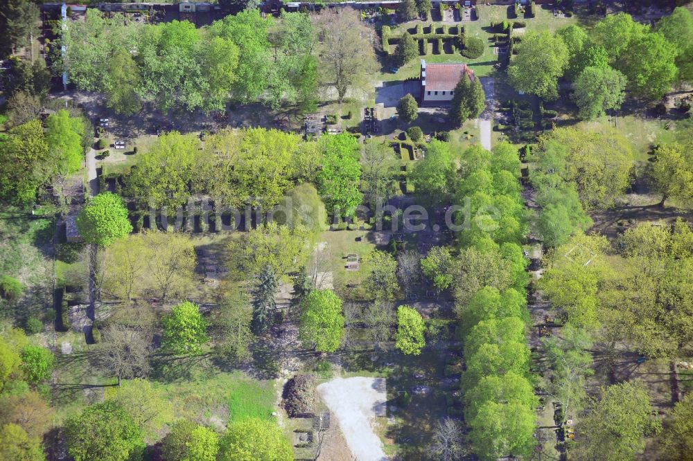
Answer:
POLYGON ((141 456, 144 449, 137 424, 113 401, 92 404, 68 419, 65 437, 67 451, 75 461, 125 461, 141 456))

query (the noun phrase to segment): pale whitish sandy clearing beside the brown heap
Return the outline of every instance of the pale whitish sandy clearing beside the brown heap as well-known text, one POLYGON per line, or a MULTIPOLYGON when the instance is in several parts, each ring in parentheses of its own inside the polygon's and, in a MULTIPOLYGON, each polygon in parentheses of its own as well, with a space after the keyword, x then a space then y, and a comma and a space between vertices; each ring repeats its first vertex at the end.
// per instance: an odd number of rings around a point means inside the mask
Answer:
POLYGON ((317 390, 342 428, 351 454, 358 461, 387 460, 383 444, 373 431, 373 419, 385 414, 385 379, 337 378, 317 390))

